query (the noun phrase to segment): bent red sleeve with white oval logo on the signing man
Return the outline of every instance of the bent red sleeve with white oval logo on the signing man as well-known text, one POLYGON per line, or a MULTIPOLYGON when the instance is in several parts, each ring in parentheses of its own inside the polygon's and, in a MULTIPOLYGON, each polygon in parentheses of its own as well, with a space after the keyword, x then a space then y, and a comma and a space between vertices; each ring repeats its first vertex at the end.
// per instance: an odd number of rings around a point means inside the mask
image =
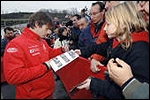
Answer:
MULTIPOLYGON (((23 49, 17 43, 9 42, 4 53, 4 74, 9 84, 21 84, 34 80, 47 72, 46 66, 29 66, 23 49)), ((39 63, 39 62, 38 62, 39 63)))

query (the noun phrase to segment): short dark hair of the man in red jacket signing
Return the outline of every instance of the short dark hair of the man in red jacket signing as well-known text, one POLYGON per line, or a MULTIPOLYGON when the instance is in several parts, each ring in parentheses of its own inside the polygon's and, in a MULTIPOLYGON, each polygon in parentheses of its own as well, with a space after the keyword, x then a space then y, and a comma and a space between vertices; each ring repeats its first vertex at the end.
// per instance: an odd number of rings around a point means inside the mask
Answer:
POLYGON ((38 23, 39 27, 42 27, 43 25, 52 26, 52 24, 53 24, 50 13, 46 12, 46 11, 38 11, 38 12, 32 14, 29 18, 27 27, 34 28, 35 23, 38 23))

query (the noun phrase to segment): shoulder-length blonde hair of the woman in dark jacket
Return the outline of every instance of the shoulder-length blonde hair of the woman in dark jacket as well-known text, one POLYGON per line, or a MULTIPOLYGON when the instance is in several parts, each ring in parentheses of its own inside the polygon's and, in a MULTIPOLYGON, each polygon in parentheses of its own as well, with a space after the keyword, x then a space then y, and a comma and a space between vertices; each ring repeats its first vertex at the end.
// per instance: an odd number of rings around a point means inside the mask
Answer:
POLYGON ((116 26, 114 34, 124 49, 128 49, 132 45, 131 33, 147 31, 147 24, 132 1, 111 7, 105 17, 106 22, 111 22, 116 26))

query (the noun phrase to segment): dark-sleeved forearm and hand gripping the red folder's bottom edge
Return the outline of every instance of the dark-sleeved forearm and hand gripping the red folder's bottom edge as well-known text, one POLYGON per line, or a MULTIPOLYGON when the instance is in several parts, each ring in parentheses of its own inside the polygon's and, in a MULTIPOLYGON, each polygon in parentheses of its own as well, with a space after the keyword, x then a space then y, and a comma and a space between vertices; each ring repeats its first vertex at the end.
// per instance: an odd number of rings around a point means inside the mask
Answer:
POLYGON ((103 97, 106 99, 124 99, 119 86, 109 80, 100 80, 98 78, 88 78, 78 89, 89 89, 94 98, 103 97))

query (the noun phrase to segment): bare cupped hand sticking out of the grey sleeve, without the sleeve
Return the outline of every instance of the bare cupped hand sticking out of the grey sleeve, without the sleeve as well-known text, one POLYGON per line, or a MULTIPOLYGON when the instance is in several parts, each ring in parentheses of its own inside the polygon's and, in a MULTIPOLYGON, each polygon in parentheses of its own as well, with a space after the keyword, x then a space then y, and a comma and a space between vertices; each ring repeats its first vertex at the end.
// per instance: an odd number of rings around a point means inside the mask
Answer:
POLYGON ((131 67, 119 58, 110 59, 107 68, 109 77, 119 86, 133 77, 131 67))

